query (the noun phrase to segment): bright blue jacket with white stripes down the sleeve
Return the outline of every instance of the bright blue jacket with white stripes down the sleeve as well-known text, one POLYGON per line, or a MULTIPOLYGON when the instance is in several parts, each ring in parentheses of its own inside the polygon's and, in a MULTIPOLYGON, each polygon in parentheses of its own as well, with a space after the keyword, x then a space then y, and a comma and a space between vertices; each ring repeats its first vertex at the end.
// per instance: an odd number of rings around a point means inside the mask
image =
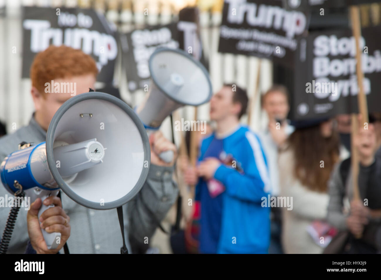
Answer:
MULTIPOLYGON (((208 154, 214 139, 215 134, 212 134, 203 140, 199 160, 208 154)), ((201 202, 200 251, 213 253, 207 248, 211 240, 203 240, 208 237, 211 222, 210 218, 205 218, 208 216, 205 211, 210 211, 206 206, 210 201, 219 198, 222 211, 216 253, 267 253, 270 243, 270 208, 262 207, 261 199, 267 198, 271 186, 261 142, 247 126, 240 126, 222 139, 222 146, 223 154, 228 155, 232 163, 221 163, 214 178, 223 184, 225 191, 211 198, 206 195, 207 182, 200 179, 196 186, 196 200, 201 202)))

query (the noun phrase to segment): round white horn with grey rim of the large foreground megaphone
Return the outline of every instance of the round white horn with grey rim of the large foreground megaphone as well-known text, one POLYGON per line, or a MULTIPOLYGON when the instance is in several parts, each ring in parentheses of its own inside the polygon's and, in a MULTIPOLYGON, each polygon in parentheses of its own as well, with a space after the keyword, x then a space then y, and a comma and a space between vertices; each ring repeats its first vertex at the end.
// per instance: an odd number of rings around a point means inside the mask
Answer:
POLYGON ((144 185, 150 147, 144 126, 125 102, 91 92, 58 109, 46 134, 46 158, 70 198, 106 210, 125 204, 144 185))

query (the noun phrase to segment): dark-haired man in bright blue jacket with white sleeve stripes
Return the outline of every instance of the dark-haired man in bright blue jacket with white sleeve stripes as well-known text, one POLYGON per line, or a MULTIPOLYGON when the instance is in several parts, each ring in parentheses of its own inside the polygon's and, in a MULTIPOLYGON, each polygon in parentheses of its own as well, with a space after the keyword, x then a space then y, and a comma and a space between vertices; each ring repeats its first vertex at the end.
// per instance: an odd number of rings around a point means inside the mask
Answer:
POLYGON ((217 129, 203 139, 196 170, 187 171, 199 178, 200 253, 267 253, 269 247, 270 208, 261 207, 271 191, 266 157, 256 134, 239 124, 247 101, 235 85, 212 97, 217 129))

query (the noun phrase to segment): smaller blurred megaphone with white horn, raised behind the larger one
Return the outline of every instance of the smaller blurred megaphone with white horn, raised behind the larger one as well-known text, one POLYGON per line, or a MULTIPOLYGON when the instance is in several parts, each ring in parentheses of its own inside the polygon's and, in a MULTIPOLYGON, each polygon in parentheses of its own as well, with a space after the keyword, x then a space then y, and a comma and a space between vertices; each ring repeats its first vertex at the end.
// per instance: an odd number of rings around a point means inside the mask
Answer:
MULTIPOLYGON (((158 48, 149 58, 149 71, 149 93, 136 109, 148 134, 179 107, 199 106, 212 96, 208 71, 185 51, 158 48)), ((159 157, 169 163, 173 152, 162 152, 159 157)))

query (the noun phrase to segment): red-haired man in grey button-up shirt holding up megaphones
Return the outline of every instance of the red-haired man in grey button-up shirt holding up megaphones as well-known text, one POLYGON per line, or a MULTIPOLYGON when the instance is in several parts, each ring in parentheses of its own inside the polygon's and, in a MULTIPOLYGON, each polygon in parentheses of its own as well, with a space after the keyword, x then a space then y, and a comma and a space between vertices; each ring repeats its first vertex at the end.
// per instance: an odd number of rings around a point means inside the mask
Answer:
MULTIPOLYGON (((47 92, 46 88, 44 91, 45 83, 50 83, 51 80, 58 83, 74 83, 77 91, 74 93, 75 95, 87 92, 89 88, 94 88, 97 73, 95 61, 81 50, 75 50, 68 46, 57 47, 52 45, 37 54, 30 71, 31 94, 35 112, 29 125, 0 138, 0 163, 7 155, 17 150, 18 144, 22 141, 35 144, 45 141, 46 130, 54 113, 67 99, 73 96, 70 93, 47 92)), ((125 232, 129 237, 126 240, 127 248, 133 253, 136 250, 134 248, 131 250, 132 246, 129 243, 136 245, 135 248, 147 242, 150 244, 150 238, 155 229, 178 196, 177 185, 172 179, 174 160, 177 155, 176 147, 165 139, 160 132, 151 134, 150 147, 151 165, 147 181, 138 195, 127 205, 123 205, 125 232), (171 163, 165 163, 157 156, 165 150, 173 150, 174 152, 171 163), (129 240, 130 242, 128 242, 129 240)), ((123 182, 120 184, 122 185, 123 182)), ((5 196, 6 193, 7 191, 0 183, 0 196, 5 196)), ((61 192, 61 201, 65 211, 65 213, 61 212, 61 216, 70 217, 71 232, 68 242, 70 253, 120 253, 122 235, 115 209, 92 210, 85 208, 71 200, 63 192, 61 192)), ((38 201, 37 204, 37 208, 39 208, 41 201, 38 201)), ((45 212, 55 211, 52 210, 54 208, 61 208, 60 203, 55 203, 55 205, 56 207, 45 212)), ((0 208, 0 230, 5 227, 8 210, 9 208, 0 208)), ((30 210, 36 212, 35 207, 31 207, 30 210)), ((59 210, 61 211, 61 209, 59 210)), ((29 227, 30 235, 32 233, 34 236, 35 234, 42 236, 36 220, 37 216, 30 212, 27 218, 26 212, 19 211, 8 253, 24 253, 29 240, 27 227, 29 227), (36 224, 37 228, 35 226, 30 227, 36 224), (36 233, 36 230, 40 232, 36 233)), ((67 226, 68 221, 68 219, 60 219, 58 224, 67 226)), ((31 237, 30 243, 37 253, 57 253, 56 250, 47 250, 46 245, 43 246, 44 242, 34 242, 35 239, 31 237)), ((61 245, 63 245, 62 242, 61 245)))

